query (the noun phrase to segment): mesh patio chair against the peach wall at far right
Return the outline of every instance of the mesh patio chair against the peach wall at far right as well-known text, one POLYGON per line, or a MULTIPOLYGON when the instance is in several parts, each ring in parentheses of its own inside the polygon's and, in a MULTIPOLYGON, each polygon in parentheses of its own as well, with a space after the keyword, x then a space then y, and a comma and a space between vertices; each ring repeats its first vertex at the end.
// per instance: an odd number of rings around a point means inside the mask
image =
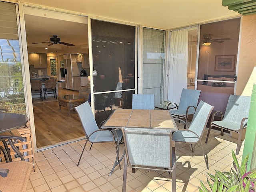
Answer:
POLYGON ((247 126, 250 101, 251 97, 249 96, 230 95, 224 116, 220 111, 214 112, 212 115, 205 143, 208 142, 212 126, 220 128, 222 136, 223 129, 236 132, 239 134, 236 147, 236 155, 238 155, 241 148, 242 130, 246 129, 247 126), (220 121, 213 121, 218 113, 220 113, 220 121))

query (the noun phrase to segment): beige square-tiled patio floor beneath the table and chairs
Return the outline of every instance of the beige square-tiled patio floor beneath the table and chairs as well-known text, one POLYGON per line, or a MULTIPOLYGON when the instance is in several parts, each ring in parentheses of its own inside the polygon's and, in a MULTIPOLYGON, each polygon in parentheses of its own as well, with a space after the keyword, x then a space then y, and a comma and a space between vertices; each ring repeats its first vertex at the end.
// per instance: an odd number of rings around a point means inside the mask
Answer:
MULTIPOLYGON (((198 191, 200 180, 206 183, 207 173, 214 170, 229 171, 232 166, 231 150, 236 150, 236 139, 218 132, 211 132, 208 144, 203 147, 208 154, 209 170, 206 169, 202 150, 196 145, 194 153, 186 144, 176 144, 176 191, 198 191)), ((76 164, 85 141, 81 140, 35 154, 36 172, 32 172, 27 192, 121 192, 123 169, 115 168, 108 176, 116 157, 113 143, 94 144, 89 151, 87 144, 80 165, 76 164)), ((120 146, 120 154, 124 146, 120 146)), ((243 145, 237 156, 242 159, 243 145)), ((124 161, 121 163, 124 166, 124 161)), ((168 173, 128 168, 127 192, 168 192, 171 178, 168 173)))

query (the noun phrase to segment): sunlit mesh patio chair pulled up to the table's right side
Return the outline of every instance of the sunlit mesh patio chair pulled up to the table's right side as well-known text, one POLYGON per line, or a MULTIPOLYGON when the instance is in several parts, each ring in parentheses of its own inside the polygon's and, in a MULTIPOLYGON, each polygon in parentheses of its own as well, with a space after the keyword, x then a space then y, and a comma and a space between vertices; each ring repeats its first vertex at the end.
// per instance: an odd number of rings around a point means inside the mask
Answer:
MULTIPOLYGON (((194 152, 194 146, 200 142, 202 147, 202 152, 204 156, 204 161, 206 164, 206 168, 209 169, 208 165, 208 156, 207 154, 204 155, 204 148, 201 142, 202 136, 204 134, 204 130, 206 127, 206 124, 208 122, 208 119, 210 117, 210 114, 213 110, 214 106, 211 106, 203 101, 200 101, 196 108, 196 112, 194 113, 192 122, 188 129, 179 129, 178 131, 174 132, 172 134, 172 140, 180 143, 187 143, 191 144, 192 152, 194 152)), ((177 118, 176 118, 177 119, 177 118)), ((182 121, 182 120, 181 120, 182 121)), ((184 122, 184 121, 182 121, 184 122)), ((186 122, 184 122, 186 124, 186 122)), ((186 124, 187 125, 187 124, 186 124)))

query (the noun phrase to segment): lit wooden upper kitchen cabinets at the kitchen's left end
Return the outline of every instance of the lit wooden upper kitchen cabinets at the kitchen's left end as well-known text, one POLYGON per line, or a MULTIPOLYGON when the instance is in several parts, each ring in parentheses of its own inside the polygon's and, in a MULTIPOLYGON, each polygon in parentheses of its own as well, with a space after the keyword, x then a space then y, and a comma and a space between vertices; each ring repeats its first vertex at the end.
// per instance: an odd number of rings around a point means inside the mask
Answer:
POLYGON ((45 53, 29 53, 29 65, 34 65, 34 68, 47 68, 47 55, 45 53))

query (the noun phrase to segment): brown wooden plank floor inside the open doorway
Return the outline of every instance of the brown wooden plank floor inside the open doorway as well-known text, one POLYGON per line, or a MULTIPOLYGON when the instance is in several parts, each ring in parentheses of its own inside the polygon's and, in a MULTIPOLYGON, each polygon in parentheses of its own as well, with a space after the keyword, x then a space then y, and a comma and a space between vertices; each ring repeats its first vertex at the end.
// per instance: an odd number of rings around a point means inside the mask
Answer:
MULTIPOLYGON (((58 89, 58 95, 66 94, 78 95, 78 92, 58 89)), ((59 110, 58 99, 33 100, 33 109, 37 148, 85 136, 76 111, 71 110, 71 114, 68 115, 66 107, 61 107, 61 110, 59 110)))

